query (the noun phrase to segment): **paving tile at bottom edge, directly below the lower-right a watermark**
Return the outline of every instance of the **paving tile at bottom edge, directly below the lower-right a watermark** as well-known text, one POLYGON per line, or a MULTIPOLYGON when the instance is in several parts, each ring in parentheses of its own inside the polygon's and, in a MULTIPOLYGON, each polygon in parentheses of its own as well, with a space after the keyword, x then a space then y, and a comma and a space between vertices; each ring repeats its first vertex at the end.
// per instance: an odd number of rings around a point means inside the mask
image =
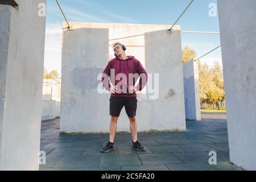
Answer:
POLYGON ((209 164, 166 164, 171 171, 216 171, 209 164))

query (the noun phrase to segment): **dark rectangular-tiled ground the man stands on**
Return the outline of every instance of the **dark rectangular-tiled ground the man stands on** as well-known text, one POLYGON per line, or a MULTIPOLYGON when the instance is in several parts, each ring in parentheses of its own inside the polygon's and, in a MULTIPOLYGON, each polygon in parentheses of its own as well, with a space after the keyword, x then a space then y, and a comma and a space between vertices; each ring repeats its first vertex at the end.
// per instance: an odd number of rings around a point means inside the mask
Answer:
POLYGON ((130 133, 118 133, 117 150, 102 154, 108 134, 59 135, 59 119, 42 122, 41 150, 46 165, 40 170, 241 170, 229 163, 225 114, 202 114, 187 121, 187 131, 139 133, 146 152, 131 149, 130 133), (218 118, 218 119, 213 119, 218 118), (217 165, 208 164, 209 151, 217 165))

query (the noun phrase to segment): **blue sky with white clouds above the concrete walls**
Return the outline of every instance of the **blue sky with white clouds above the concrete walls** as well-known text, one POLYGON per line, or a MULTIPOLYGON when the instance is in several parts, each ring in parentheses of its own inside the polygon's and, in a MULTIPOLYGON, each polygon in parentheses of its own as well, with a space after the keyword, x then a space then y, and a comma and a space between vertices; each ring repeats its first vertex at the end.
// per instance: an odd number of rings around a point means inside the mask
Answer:
MULTIPOLYGON (((70 22, 173 24, 191 0, 59 0, 70 22)), ((218 15, 209 16, 209 4, 216 0, 195 0, 178 25, 181 31, 219 32, 218 15)), ((55 0, 47 1, 46 51, 47 71, 61 71, 61 23, 63 16, 55 0)), ((195 49, 197 57, 220 46, 220 35, 181 34, 182 46, 195 49)), ((221 49, 201 59, 202 63, 221 63, 221 49)))

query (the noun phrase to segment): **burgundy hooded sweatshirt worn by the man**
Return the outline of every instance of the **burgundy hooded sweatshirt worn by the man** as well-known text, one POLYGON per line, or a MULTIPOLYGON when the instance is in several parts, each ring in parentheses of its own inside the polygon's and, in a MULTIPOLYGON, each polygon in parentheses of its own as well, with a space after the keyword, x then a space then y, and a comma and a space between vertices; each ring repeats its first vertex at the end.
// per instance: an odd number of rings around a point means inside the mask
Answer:
MULTIPOLYGON (((142 64, 135 59, 134 56, 127 56, 128 59, 126 60, 121 60, 119 59, 117 56, 110 60, 108 65, 106 66, 106 68, 104 69, 103 73, 105 73, 106 75, 108 75, 108 78, 110 76, 110 69, 114 69, 115 70, 115 77, 118 75, 118 73, 124 73, 126 75, 127 78, 127 84, 126 84, 126 93, 111 93, 111 96, 119 96, 119 97, 136 97, 136 93, 129 93, 129 87, 130 86, 134 86, 135 83, 137 82, 138 78, 134 78, 133 79, 133 85, 129 85, 129 73, 138 73, 139 75, 141 75, 142 73, 144 73, 144 75, 146 76, 146 82, 142 82, 142 78, 139 77, 139 84, 137 86, 137 90, 141 91, 144 86, 146 86, 147 84, 147 72, 146 70, 143 68, 142 64)), ((102 84, 104 85, 104 87, 106 88, 106 90, 109 90, 110 88, 110 82, 109 79, 104 77, 104 75, 102 75, 101 81, 102 84)), ((111 77, 111 79, 113 79, 111 77)), ((119 81, 121 80, 115 80, 115 78, 112 81, 113 85, 117 85, 119 81)), ((122 89, 122 85, 121 88, 118 89, 122 89)))

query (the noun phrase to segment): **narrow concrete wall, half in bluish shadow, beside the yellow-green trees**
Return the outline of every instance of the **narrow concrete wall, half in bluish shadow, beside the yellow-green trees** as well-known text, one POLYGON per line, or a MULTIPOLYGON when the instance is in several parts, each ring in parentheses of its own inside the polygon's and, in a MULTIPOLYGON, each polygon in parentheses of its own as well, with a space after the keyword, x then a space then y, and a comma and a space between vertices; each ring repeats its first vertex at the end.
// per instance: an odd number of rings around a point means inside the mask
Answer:
POLYGON ((183 64, 186 119, 201 121, 198 61, 183 64))

